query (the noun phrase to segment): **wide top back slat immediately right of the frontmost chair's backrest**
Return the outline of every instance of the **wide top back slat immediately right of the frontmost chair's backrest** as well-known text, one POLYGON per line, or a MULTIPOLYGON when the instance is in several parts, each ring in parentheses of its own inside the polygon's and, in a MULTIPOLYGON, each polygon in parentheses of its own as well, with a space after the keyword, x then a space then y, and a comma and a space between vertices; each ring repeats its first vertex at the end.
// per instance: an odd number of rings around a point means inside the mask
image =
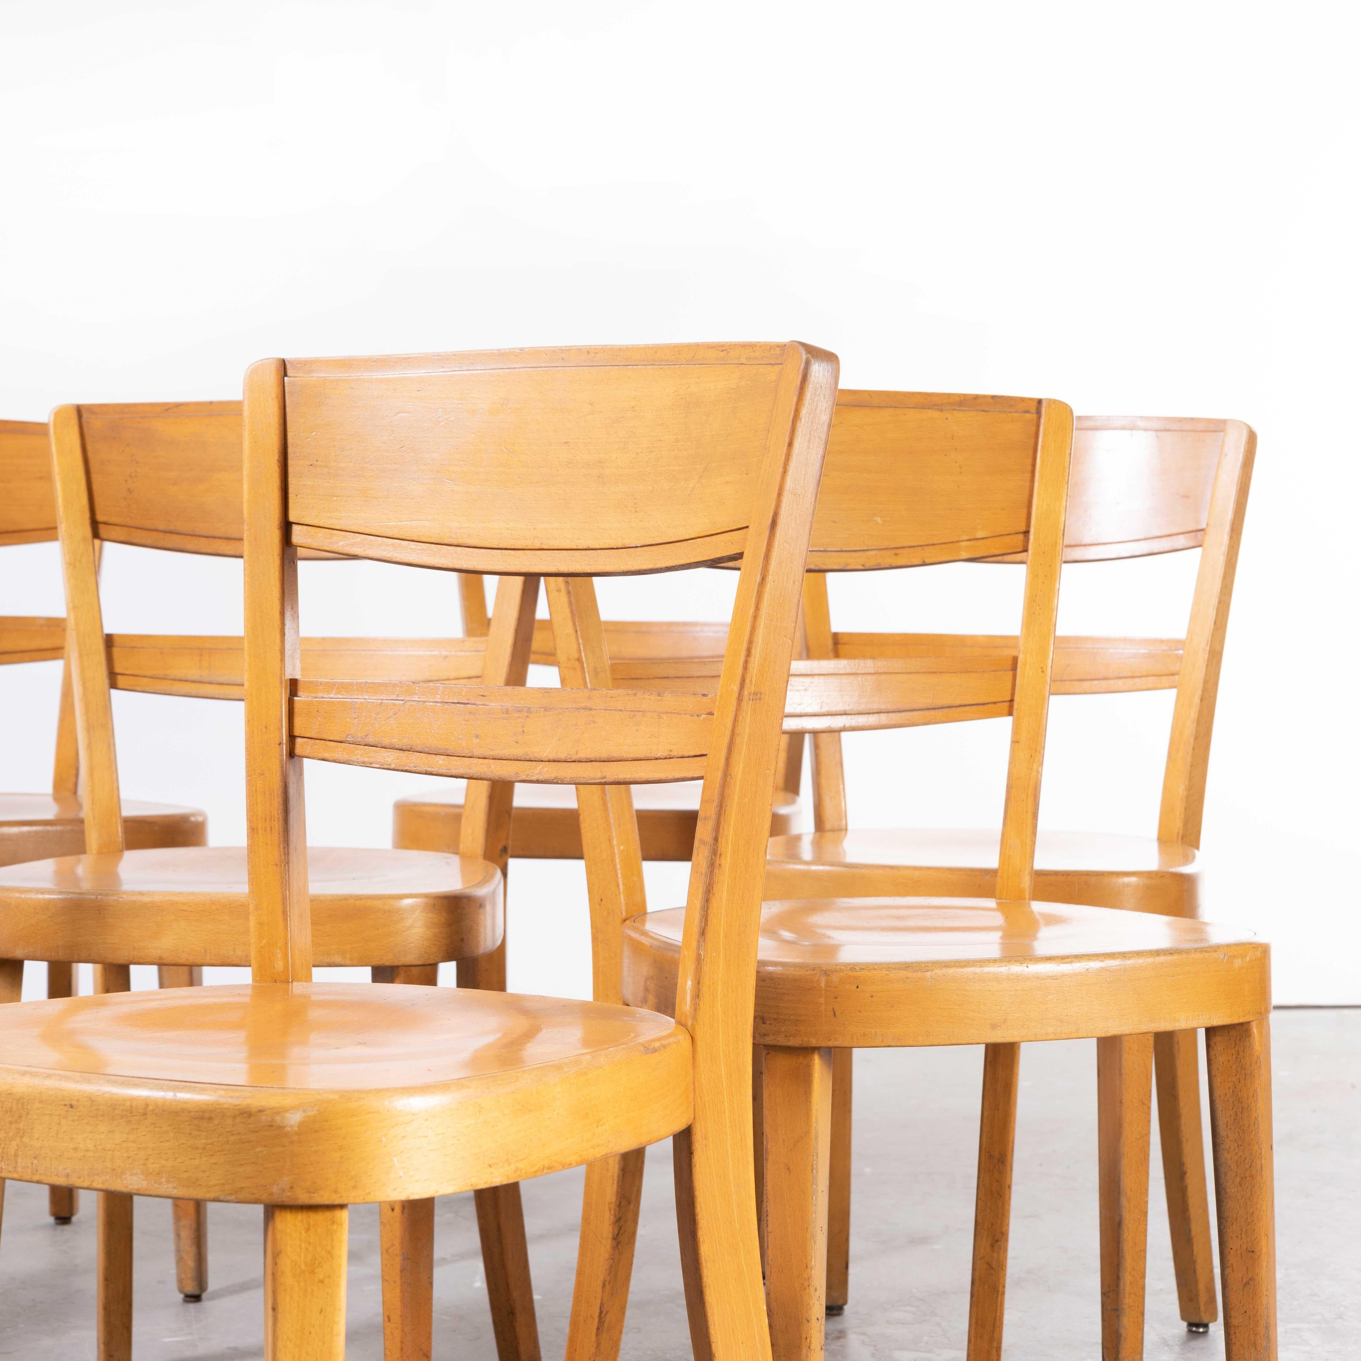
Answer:
POLYGON ((810 570, 1022 551, 1038 429, 1029 399, 841 392, 810 570))

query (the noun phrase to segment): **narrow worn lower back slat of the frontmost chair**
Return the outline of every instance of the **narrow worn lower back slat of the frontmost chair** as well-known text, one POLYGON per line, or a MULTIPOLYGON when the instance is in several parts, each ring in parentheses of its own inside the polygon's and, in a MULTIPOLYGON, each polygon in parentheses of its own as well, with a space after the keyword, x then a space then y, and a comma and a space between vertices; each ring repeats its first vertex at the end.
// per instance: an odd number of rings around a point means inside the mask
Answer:
POLYGON ((646 783, 702 774, 713 712, 708 694, 299 680, 291 731, 298 755, 324 743, 328 759, 355 765, 538 784, 645 772, 646 783))

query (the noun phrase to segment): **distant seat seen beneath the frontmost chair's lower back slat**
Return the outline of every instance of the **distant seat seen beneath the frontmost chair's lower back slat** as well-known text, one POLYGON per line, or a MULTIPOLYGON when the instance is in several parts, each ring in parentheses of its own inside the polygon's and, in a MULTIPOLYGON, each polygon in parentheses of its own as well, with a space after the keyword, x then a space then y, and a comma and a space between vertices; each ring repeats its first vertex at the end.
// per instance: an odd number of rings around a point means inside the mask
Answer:
MULTIPOLYGON (((702 783, 637 784, 633 807, 644 860, 689 860, 700 815, 702 783)), ((399 799, 392 808, 392 844, 415 851, 457 851, 463 823, 464 783, 399 799)), ((798 829, 799 799, 777 789, 770 834, 798 829)), ((581 823, 572 785, 517 784, 510 819, 510 855, 527 860, 580 860, 581 823)))

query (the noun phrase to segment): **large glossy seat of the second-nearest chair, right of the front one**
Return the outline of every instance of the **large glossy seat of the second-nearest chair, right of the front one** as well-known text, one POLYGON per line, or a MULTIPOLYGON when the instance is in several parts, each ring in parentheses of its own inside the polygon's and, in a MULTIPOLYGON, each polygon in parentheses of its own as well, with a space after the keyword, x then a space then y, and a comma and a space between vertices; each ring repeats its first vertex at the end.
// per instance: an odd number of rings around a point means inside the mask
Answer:
MULTIPOLYGON (((625 925, 625 1000, 675 998, 685 909, 625 925)), ((1271 1007, 1270 950, 1204 921, 992 898, 761 909, 754 1037, 793 1048, 1191 1030, 1271 1007)))

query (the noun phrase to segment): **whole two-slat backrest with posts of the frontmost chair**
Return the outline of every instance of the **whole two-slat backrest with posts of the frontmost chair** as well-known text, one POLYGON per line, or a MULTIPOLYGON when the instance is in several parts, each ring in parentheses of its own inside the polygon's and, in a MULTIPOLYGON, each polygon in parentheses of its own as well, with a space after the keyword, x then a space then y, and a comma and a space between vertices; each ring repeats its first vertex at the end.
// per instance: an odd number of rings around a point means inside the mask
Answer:
MULTIPOLYGON (((265 361, 246 376, 252 976, 309 977, 302 758, 472 781, 460 851, 514 781, 574 784, 596 995, 642 911, 627 785, 704 777, 678 1018, 697 1108, 750 1062, 776 750, 833 355, 802 344, 265 361), (301 547, 499 577, 482 683, 299 678, 301 547), (611 690, 597 574, 742 557, 715 694, 611 690), (524 685, 546 578, 561 689, 524 685)), ((494 855, 489 856, 494 859, 494 855)))

